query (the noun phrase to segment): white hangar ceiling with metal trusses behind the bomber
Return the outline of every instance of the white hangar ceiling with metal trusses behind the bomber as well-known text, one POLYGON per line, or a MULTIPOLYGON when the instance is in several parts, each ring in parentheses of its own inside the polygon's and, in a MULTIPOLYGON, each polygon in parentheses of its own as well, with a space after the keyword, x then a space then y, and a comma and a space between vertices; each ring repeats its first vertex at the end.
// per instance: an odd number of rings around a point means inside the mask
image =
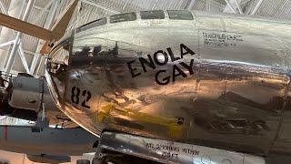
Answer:
MULTIPOLYGON (((0 12, 50 28, 71 0, 0 0, 0 12)), ((67 32, 97 18, 122 12, 188 9, 291 19, 291 0, 79 0, 67 32)), ((0 26, 0 71, 43 76, 44 42, 0 26), (14 60, 15 58, 15 60, 14 60)))

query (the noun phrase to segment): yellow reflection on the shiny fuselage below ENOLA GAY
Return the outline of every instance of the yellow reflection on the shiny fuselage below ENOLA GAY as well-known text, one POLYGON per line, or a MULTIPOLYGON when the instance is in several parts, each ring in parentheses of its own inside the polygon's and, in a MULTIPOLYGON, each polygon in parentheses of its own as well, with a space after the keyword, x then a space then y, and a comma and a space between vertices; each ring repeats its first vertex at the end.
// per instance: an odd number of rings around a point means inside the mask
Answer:
POLYGON ((155 117, 130 108, 117 107, 115 104, 108 104, 96 116, 97 122, 123 131, 133 130, 135 132, 144 129, 152 129, 148 136, 158 136, 165 133, 170 138, 181 138, 186 130, 184 118, 163 118, 155 117))

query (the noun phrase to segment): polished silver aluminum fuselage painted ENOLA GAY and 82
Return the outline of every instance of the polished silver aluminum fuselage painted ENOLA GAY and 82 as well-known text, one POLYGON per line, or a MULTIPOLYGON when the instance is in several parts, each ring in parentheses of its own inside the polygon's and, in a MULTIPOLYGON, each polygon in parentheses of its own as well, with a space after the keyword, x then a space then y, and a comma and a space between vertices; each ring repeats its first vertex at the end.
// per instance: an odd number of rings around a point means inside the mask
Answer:
POLYGON ((291 153, 291 22, 192 14, 75 30, 58 107, 97 136, 291 153))

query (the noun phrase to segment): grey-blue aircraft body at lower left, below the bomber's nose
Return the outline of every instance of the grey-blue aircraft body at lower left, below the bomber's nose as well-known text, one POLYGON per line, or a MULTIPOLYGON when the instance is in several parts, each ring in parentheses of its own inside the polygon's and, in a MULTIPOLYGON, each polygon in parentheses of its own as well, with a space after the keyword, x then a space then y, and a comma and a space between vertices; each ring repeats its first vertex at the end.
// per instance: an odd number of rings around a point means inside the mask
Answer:
POLYGON ((39 163, 70 162, 70 156, 94 152, 97 138, 83 128, 0 126, 0 148, 26 154, 39 163))

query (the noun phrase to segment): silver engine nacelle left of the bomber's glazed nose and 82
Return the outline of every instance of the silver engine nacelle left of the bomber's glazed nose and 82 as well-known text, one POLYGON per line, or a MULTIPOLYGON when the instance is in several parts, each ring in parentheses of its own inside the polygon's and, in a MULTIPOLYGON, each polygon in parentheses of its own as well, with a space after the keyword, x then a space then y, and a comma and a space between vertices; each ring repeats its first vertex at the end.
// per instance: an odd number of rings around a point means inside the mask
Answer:
POLYGON ((13 89, 9 100, 10 106, 39 111, 43 103, 45 108, 58 110, 49 94, 45 78, 13 78, 13 89))

